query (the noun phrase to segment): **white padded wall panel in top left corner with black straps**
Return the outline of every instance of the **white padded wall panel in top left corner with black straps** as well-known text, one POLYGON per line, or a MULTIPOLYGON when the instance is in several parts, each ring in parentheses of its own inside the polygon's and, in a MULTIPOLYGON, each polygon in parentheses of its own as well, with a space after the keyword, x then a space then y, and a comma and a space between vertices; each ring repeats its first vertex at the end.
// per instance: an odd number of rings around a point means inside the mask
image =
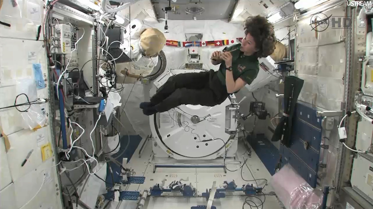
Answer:
MULTIPOLYGON (((10 27, 0 25, 0 37, 25 38, 36 40, 38 26, 41 25, 45 11, 44 1, 27 0, 16 1, 18 6, 13 7, 12 1, 3 1, 0 19, 10 24, 10 27)), ((43 40, 43 31, 40 32, 39 41, 43 40)), ((19 48, 18 48, 19 49, 19 48)))

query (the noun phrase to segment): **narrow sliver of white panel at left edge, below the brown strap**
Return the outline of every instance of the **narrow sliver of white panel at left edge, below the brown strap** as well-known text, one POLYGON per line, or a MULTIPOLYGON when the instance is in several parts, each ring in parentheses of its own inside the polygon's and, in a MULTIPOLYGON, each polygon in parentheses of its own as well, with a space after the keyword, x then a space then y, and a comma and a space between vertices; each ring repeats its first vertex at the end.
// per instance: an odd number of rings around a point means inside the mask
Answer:
POLYGON ((12 183, 10 176, 8 158, 6 156, 4 138, 0 138, 0 191, 12 183))

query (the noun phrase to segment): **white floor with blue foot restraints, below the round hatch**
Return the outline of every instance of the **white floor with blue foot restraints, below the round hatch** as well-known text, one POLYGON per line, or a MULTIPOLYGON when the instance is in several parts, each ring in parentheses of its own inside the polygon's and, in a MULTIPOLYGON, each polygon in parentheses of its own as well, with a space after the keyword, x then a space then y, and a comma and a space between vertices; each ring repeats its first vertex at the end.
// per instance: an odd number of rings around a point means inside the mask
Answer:
MULTIPOLYGON (((165 180, 164 188, 168 188, 168 185, 172 181, 179 181, 181 179, 188 179, 189 181, 182 181, 182 183, 191 183, 193 187, 197 190, 197 195, 201 196, 206 189, 211 188, 213 181, 216 181, 218 188, 222 188, 224 181, 234 180, 237 188, 241 188, 242 185, 247 183, 256 185, 255 181, 244 181, 253 180, 253 176, 256 179, 267 179, 270 181, 271 175, 267 171, 266 167, 260 161, 259 157, 252 150, 251 157, 248 156, 246 148, 244 146, 238 146, 236 157, 227 158, 225 163, 226 167, 230 170, 237 170, 235 172, 227 171, 224 172, 223 168, 157 168, 156 172, 153 173, 154 164, 223 164, 223 159, 215 160, 193 160, 183 161, 175 160, 173 158, 154 158, 152 153, 151 141, 148 141, 146 146, 143 148, 141 157, 139 157, 139 151, 145 139, 143 139, 132 156, 128 167, 131 167, 136 172, 136 176, 144 176, 144 184, 131 184, 128 186, 127 191, 139 191, 142 193, 144 190, 150 190, 155 184, 162 184, 162 180, 165 180), (244 154, 244 156, 242 156, 244 154), (243 164, 244 159, 247 159, 247 166, 250 168, 252 175, 246 165, 243 164), (241 177, 241 166, 242 177, 241 177)), ((260 187, 264 187, 265 181, 257 180, 260 187)), ((270 186, 270 182, 265 186, 263 192, 266 194, 266 201, 264 203, 263 209, 277 209, 282 208, 282 203, 279 202, 277 197, 272 193, 273 189, 270 186)), ((190 209, 192 206, 206 205, 206 200, 203 197, 178 197, 181 193, 163 193, 165 197, 149 197, 144 209, 164 209, 164 208, 179 208, 179 209, 190 209)), ((218 209, 221 208, 242 208, 247 196, 243 192, 227 193, 228 195, 222 199, 215 199, 213 205, 218 209)), ((258 195, 257 197, 264 200, 264 196, 258 195)), ((260 204, 260 201, 250 198, 255 203, 260 204)), ((136 201, 125 201, 120 205, 120 209, 131 208, 135 206, 136 201)), ((116 203, 112 204, 111 208, 116 208, 116 203)), ((252 206, 256 208, 255 206, 252 206)), ((244 207, 250 208, 246 205, 244 207)), ((260 208, 260 206, 259 206, 260 208)))

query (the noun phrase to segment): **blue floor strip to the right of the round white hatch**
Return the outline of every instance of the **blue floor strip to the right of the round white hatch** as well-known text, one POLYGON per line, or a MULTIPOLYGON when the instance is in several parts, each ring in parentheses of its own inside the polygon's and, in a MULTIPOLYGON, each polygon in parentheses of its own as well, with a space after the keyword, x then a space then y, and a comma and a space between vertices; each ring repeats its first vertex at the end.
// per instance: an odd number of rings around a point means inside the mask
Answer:
POLYGON ((257 134, 255 138, 248 135, 246 139, 269 173, 274 175, 280 160, 279 150, 264 137, 264 134, 257 134))

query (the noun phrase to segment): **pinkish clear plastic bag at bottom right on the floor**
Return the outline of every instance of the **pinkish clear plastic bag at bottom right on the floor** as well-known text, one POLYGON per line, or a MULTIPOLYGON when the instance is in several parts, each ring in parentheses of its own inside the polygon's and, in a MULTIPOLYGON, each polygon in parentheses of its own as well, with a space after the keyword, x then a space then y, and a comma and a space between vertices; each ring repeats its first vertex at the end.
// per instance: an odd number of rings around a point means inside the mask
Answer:
POLYGON ((271 185, 286 209, 317 209, 322 190, 312 188, 289 164, 272 176, 271 185))

